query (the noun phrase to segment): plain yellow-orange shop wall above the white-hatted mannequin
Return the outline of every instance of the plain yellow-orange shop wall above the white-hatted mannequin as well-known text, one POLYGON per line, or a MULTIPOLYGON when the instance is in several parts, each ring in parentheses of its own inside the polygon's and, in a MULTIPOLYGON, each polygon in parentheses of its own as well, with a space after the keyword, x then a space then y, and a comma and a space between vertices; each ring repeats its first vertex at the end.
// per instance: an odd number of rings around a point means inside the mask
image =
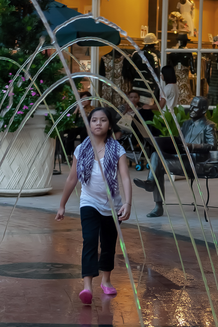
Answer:
POLYGON ((148 24, 148 0, 101 0, 101 16, 116 23, 132 38, 140 38, 148 24))

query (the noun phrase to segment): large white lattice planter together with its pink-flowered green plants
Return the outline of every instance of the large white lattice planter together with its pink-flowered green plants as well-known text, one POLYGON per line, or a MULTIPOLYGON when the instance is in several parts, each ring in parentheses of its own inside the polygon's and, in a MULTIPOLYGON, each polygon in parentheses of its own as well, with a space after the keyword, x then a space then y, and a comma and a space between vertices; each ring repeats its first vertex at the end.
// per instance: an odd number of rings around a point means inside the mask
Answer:
MULTIPOLYGON (((48 9, 51 0, 39 0, 43 10, 48 9)), ((34 14, 34 8, 29 0, 2 0, 0 3, 0 57, 8 60, 0 60, 0 101, 7 91, 18 65, 35 51, 39 38, 43 32, 43 24, 39 17, 34 14), (10 61, 13 60, 13 61, 10 61), (15 63, 14 63, 15 62, 15 63)), ((30 74, 34 76, 44 62, 48 59, 46 52, 39 53, 30 66, 30 74)), ((62 64, 58 57, 53 59, 39 75, 36 84, 38 90, 33 86, 27 93, 25 100, 18 109, 14 120, 9 128, 7 137, 4 139, 0 149, 0 157, 4 155, 5 149, 13 138, 16 130, 31 110, 39 93, 43 93, 50 85, 59 80, 63 73, 62 64)), ((7 128, 22 95, 24 94, 29 80, 25 80, 24 73, 20 73, 19 83, 13 83, 13 91, 8 94, 0 111, 0 132, 7 128), (10 101, 9 101, 10 99, 10 101), (9 104, 10 102, 10 104, 9 104), (12 103, 12 105, 11 105, 12 103)), ((81 88, 80 81, 76 81, 78 89, 81 88)), ((65 83, 55 89, 46 97, 46 103, 53 108, 54 119, 57 120, 66 106, 75 102, 75 97, 68 85, 65 83), (62 110, 61 110, 62 108, 62 110)), ((15 143, 10 148, 1 168, 1 195, 16 195, 19 193, 29 167, 38 149, 45 139, 45 132, 51 127, 51 121, 47 116, 45 106, 37 108, 34 115, 25 123, 24 128, 18 135, 15 143)), ((60 131, 74 127, 76 117, 69 112, 58 124, 60 131)), ((52 124, 53 125, 53 124, 52 124)), ((3 133, 0 133, 0 138, 3 133)), ((52 189, 51 176, 53 172, 53 160, 55 150, 54 131, 44 145, 37 161, 35 162, 28 180, 25 183, 22 195, 43 194, 52 189)))

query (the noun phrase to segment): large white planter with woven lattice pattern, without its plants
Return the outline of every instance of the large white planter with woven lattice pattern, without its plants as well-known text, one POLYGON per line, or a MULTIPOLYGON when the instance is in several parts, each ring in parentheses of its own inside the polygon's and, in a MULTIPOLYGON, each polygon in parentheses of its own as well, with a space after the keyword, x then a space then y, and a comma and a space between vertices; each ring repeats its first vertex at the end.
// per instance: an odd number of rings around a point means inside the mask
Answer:
MULTIPOLYGON (((40 106, 33 118, 29 118, 18 138, 11 146, 0 168, 0 195, 16 196, 21 190, 27 172, 46 134, 45 106, 40 106)), ((14 133, 8 133, 0 148, 0 159, 3 157, 14 133)), ((2 138, 3 133, 0 133, 2 138)), ((29 177, 25 182, 22 196, 45 194, 52 190, 51 177, 54 165, 55 140, 48 138, 36 159, 29 177)))

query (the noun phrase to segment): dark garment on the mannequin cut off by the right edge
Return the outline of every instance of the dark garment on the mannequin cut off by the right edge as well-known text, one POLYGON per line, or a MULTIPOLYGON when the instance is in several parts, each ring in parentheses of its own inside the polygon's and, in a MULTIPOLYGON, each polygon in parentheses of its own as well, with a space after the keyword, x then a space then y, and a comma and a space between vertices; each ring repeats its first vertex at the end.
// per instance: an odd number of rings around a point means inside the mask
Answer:
POLYGON ((218 63, 214 61, 211 62, 208 99, 210 106, 218 104, 218 63))

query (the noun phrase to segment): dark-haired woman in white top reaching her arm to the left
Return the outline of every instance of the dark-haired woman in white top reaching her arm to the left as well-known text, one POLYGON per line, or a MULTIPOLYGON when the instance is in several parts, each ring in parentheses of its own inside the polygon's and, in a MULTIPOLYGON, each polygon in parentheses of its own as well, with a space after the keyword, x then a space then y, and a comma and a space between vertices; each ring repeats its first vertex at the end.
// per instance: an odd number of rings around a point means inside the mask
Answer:
MULTIPOLYGON (((179 89, 176 84, 176 74, 173 66, 167 65, 163 66, 161 69, 161 79, 166 83, 163 91, 166 95, 167 101, 164 99, 163 95, 160 94, 159 106, 163 112, 166 111, 166 102, 171 108, 176 107, 179 97, 179 89)), ((143 109, 146 110, 159 110, 157 104, 154 105, 144 105, 143 109)))

